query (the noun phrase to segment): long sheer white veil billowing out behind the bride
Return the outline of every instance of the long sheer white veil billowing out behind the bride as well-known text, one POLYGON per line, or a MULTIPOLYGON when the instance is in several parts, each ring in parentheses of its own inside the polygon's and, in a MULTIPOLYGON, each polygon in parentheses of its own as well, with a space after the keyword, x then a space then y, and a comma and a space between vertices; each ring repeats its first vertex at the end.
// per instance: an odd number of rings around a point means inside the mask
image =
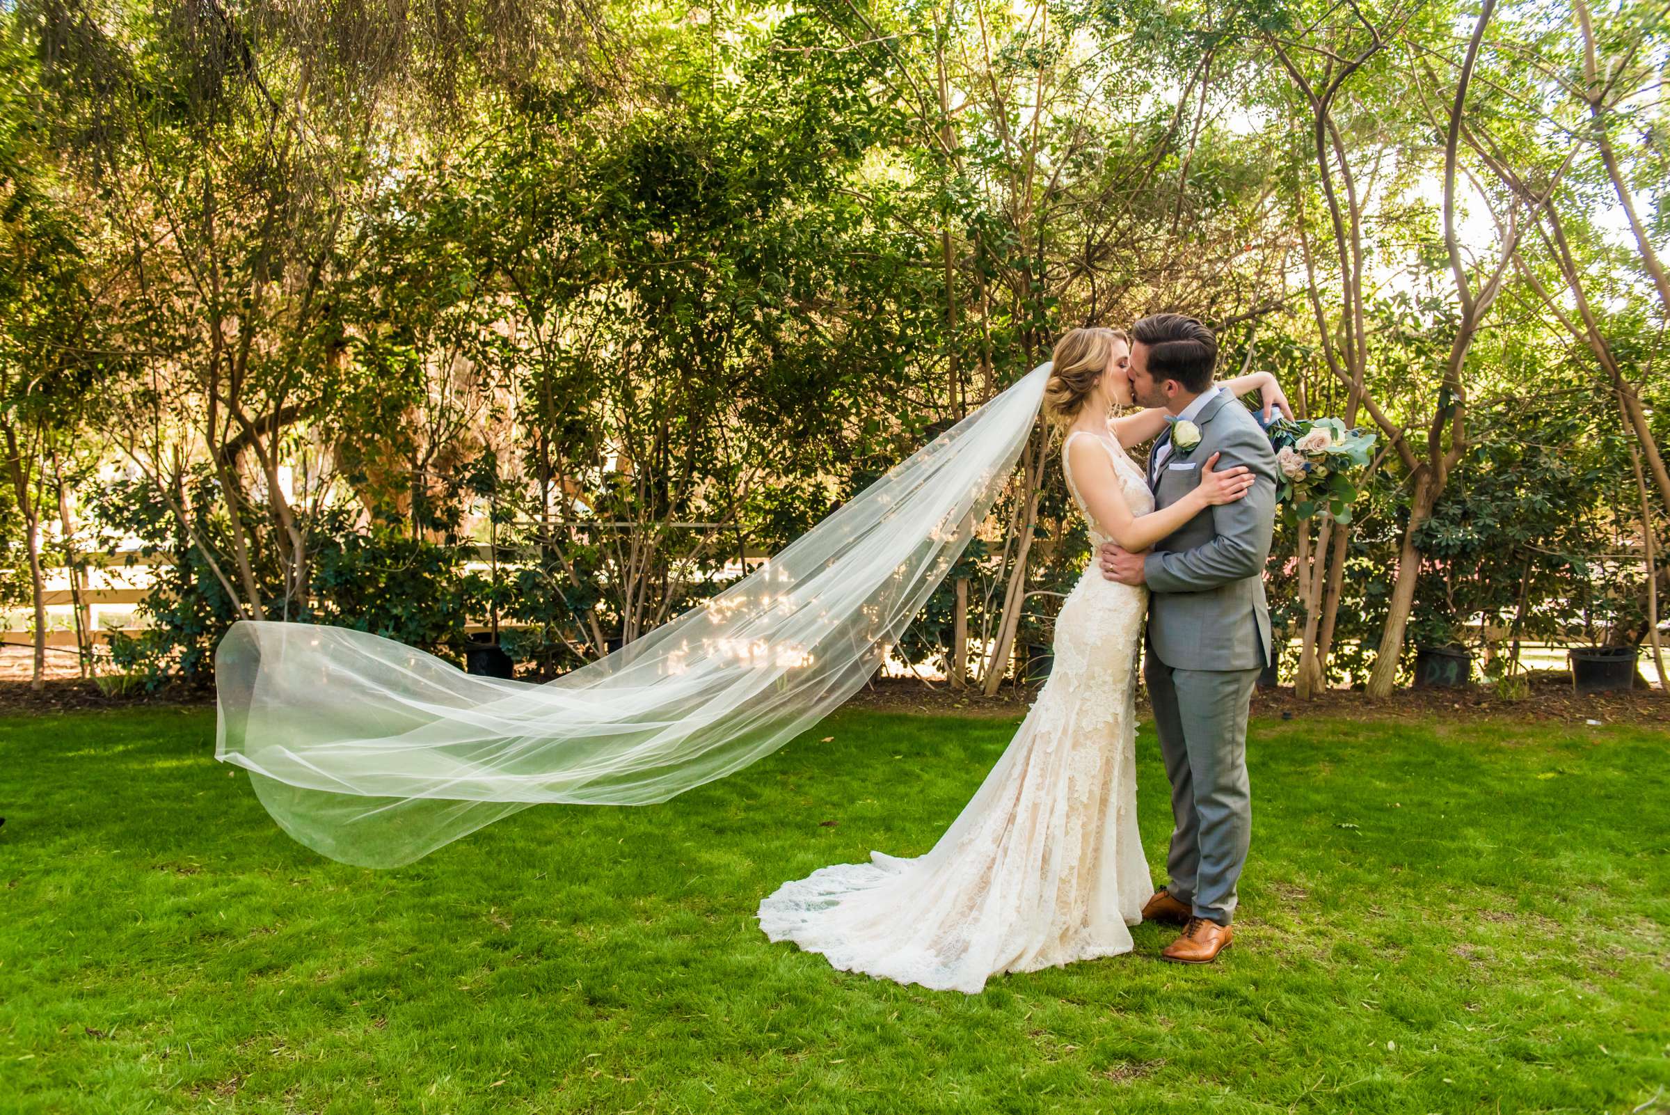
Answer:
POLYGON ((648 805, 770 754, 852 696, 962 554, 1049 364, 705 604, 546 684, 362 631, 240 621, 215 651, 215 758, 296 840, 411 863, 529 805, 648 805))

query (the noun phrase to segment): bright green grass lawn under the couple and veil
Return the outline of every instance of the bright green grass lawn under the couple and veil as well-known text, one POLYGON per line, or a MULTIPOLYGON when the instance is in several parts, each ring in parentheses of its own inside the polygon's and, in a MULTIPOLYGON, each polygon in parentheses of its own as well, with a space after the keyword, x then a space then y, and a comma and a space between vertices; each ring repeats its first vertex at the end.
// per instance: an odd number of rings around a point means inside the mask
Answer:
POLYGON ((0 719, 0 1110, 1670 1108, 1655 729, 1256 723, 1216 966, 1139 926, 964 996, 758 933, 783 880, 925 851, 1017 719, 848 711, 668 805, 386 873, 291 843, 205 711, 0 719))

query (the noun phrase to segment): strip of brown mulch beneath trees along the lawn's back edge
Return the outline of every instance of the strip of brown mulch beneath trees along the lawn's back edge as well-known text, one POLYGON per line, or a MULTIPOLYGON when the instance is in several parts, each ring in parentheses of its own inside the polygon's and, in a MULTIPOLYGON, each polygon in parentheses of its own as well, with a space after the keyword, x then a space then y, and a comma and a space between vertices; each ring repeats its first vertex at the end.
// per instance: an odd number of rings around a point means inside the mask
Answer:
MULTIPOLYGON (((847 706, 890 713, 935 713, 944 716, 1017 716, 1037 699, 1037 688, 1005 686, 997 696, 970 689, 929 688, 913 679, 877 681, 857 693, 847 706)), ((164 691, 107 694, 80 678, 48 678, 42 689, 27 681, 0 679, 0 714, 62 713, 72 709, 120 709, 147 706, 209 706, 214 691, 164 691)), ((1301 701, 1291 688, 1259 689, 1252 696, 1254 716, 1349 716, 1354 719, 1530 719, 1550 723, 1663 724, 1670 728, 1670 698, 1657 689, 1628 693, 1571 693, 1558 676, 1540 679, 1523 701, 1501 701, 1490 689, 1401 689, 1376 701, 1351 689, 1329 689, 1301 701)))

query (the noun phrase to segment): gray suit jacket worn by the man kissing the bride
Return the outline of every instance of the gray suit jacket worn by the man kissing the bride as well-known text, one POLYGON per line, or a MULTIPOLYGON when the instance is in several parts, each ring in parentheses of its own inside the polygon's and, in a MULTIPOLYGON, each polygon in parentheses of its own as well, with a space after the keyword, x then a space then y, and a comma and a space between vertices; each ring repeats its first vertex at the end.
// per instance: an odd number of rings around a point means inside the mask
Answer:
POLYGON ((1201 464, 1214 452, 1222 452, 1217 469, 1244 464, 1256 479, 1242 499, 1207 507, 1149 551, 1149 649, 1172 669, 1258 669, 1271 661, 1264 561, 1276 526, 1276 452, 1258 419, 1227 391, 1194 424, 1201 444, 1186 457, 1172 446, 1156 469, 1149 454, 1156 507, 1199 486, 1201 464))

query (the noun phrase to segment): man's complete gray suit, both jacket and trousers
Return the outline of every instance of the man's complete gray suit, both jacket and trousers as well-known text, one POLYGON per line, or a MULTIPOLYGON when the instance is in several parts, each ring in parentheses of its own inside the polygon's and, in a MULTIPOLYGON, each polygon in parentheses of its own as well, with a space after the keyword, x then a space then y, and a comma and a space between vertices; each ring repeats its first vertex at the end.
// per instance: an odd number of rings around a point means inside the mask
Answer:
MULTIPOLYGON (((1256 477, 1244 499, 1207 507, 1154 544, 1144 563, 1149 598, 1146 679, 1171 778, 1172 896, 1199 918, 1229 925, 1251 835, 1246 731, 1259 669, 1271 661, 1264 561, 1276 521, 1276 454, 1258 419, 1227 392, 1201 407, 1201 444, 1154 466, 1156 507, 1201 482, 1221 452, 1256 477)), ((1171 431, 1167 431, 1169 436, 1171 431)))

